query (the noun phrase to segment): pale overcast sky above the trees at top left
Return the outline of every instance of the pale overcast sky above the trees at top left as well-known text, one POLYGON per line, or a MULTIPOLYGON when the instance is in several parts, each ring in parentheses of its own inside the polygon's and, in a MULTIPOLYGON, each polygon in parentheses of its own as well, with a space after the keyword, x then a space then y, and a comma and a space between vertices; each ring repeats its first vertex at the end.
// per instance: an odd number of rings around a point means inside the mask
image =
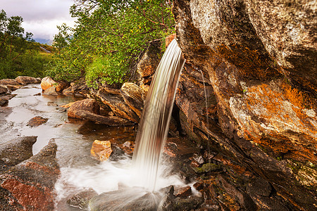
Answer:
POLYGON ((23 18, 25 32, 32 32, 34 39, 53 39, 58 32, 56 25, 74 25, 69 8, 73 0, 0 0, 0 10, 8 17, 23 18))

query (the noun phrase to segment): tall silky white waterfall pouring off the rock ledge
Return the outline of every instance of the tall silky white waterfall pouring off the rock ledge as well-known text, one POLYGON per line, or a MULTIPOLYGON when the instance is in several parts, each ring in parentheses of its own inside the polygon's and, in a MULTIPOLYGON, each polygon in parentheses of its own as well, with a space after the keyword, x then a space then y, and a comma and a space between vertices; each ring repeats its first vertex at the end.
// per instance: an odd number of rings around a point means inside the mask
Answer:
POLYGON ((174 39, 156 68, 144 103, 135 140, 132 171, 135 186, 143 186, 149 191, 155 190, 161 151, 168 135, 176 88, 184 64, 182 51, 174 39))

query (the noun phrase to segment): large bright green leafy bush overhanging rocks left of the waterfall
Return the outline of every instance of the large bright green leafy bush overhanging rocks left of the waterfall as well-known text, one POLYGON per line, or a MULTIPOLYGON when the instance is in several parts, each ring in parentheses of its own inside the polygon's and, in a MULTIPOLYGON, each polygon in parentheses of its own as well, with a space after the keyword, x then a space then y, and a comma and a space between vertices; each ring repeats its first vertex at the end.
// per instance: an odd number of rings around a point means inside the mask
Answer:
POLYGON ((85 76, 90 85, 122 83, 149 41, 174 30, 170 1, 75 2, 70 13, 77 26, 59 27, 54 39, 55 46, 62 47, 48 74, 57 79, 85 76))

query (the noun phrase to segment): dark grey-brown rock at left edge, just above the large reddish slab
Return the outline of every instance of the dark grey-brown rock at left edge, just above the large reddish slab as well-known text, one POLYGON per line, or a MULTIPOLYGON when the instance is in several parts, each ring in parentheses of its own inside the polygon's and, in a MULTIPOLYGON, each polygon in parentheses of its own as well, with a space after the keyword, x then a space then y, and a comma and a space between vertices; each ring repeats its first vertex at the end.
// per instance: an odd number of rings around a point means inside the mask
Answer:
POLYGON ((23 136, 2 144, 0 149, 0 172, 4 172, 8 167, 18 165, 23 160, 31 158, 33 156, 32 146, 36 141, 37 136, 23 136))

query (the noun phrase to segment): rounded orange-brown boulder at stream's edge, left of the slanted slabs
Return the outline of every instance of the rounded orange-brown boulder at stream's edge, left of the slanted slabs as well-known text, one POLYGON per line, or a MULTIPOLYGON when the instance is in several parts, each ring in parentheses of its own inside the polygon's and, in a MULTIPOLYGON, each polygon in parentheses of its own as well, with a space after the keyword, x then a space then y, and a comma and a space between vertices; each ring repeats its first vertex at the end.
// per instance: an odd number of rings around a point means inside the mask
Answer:
POLYGON ((72 106, 68 109, 68 117, 77 118, 79 116, 76 115, 79 110, 87 110, 90 113, 99 114, 100 108, 99 104, 94 99, 85 99, 82 101, 76 101, 72 106))

